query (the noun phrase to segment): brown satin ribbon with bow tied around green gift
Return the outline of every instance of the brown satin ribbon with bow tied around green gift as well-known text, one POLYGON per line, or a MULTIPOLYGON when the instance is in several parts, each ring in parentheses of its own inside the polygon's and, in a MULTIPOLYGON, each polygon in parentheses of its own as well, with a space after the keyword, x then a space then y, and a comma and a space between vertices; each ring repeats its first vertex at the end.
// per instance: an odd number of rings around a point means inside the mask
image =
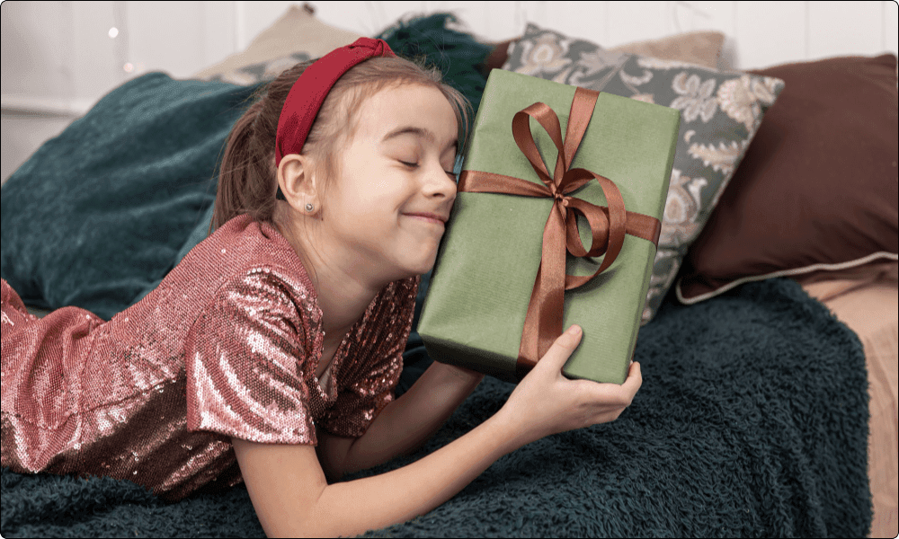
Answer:
POLYGON ((492 172, 463 171, 459 177, 458 191, 555 199, 543 230, 543 252, 521 333, 516 367, 519 376, 526 375, 562 334, 565 290, 580 287, 609 268, 621 251, 625 234, 643 238, 655 245, 659 243, 662 230, 659 220, 653 216, 627 211, 624 199, 612 181, 586 169, 569 169, 599 95, 599 92, 584 88, 577 88, 574 92, 564 144, 559 119, 547 104, 537 102, 515 113, 512 118, 512 136, 543 185, 492 172), (530 132, 530 118, 536 119, 546 129, 558 149, 556 170, 552 176, 534 143, 530 132), (566 196, 594 178, 600 184, 608 208, 566 196), (577 219, 570 212, 581 214, 587 219, 592 233, 590 251, 583 248, 577 219), (603 253, 605 257, 592 275, 568 275, 565 273, 566 251, 578 257, 596 257, 603 253))

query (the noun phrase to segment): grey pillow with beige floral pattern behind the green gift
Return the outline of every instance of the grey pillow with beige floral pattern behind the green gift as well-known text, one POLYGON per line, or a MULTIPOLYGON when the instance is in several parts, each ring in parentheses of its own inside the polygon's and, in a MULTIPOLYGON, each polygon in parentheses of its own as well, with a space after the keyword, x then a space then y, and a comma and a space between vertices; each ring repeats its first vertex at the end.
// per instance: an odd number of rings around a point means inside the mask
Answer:
POLYGON ((662 235, 643 313, 643 323, 649 322, 766 110, 783 90, 783 81, 612 52, 533 24, 512 43, 503 69, 681 110, 662 235))

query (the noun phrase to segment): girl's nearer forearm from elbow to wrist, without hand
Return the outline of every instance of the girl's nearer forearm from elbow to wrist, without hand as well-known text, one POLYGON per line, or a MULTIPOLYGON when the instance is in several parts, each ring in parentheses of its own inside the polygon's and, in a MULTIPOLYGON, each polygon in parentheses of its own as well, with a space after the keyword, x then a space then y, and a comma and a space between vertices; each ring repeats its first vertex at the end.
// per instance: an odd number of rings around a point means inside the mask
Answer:
POLYGON ((452 498, 520 445, 502 414, 448 446, 393 472, 329 485, 310 522, 318 536, 358 535, 423 515, 452 498))

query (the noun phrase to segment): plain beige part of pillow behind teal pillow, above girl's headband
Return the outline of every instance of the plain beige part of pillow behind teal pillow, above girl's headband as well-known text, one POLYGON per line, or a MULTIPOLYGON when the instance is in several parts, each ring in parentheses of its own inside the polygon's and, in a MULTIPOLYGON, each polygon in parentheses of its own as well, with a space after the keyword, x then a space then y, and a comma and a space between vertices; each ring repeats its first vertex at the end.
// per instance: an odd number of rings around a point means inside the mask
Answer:
POLYGON ((243 67, 289 57, 298 52, 307 53, 309 58, 322 57, 360 37, 360 34, 340 30, 319 21, 311 8, 291 5, 287 13, 256 36, 246 50, 232 54, 216 66, 203 69, 192 78, 210 79, 218 76, 227 79, 228 74, 243 67))

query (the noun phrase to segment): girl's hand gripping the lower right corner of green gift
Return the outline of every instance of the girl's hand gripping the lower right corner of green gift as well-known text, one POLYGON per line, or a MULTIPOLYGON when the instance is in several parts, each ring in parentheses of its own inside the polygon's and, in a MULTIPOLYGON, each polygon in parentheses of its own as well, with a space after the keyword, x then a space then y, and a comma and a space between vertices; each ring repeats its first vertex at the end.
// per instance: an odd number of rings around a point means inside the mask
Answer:
POLYGON ((581 342, 582 330, 571 326, 530 373, 521 380, 497 416, 518 433, 517 444, 565 430, 581 429, 618 419, 634 399, 643 378, 640 364, 633 363, 624 384, 598 384, 569 380, 562 367, 581 342))

